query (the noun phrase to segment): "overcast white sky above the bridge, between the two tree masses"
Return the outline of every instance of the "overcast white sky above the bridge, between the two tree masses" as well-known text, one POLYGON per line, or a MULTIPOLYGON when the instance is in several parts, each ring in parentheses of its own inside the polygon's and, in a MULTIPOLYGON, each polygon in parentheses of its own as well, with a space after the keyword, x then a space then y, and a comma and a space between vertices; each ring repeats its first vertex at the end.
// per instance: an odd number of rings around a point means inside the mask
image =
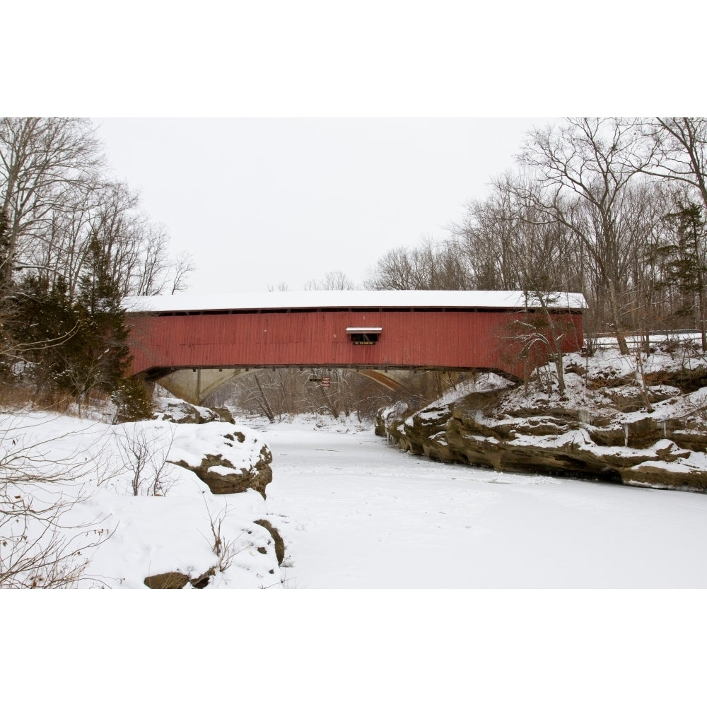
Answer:
POLYGON ((356 284, 392 247, 443 238, 549 119, 97 118, 112 175, 141 192, 189 292, 356 284))

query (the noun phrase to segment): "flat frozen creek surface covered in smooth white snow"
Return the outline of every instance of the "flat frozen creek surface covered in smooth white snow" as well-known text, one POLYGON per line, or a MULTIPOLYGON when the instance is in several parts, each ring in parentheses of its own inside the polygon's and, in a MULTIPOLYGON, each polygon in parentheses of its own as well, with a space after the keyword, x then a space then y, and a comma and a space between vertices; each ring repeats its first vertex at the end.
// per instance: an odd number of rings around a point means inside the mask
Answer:
POLYGON ((439 464, 262 426, 293 588, 703 588, 707 496, 439 464))

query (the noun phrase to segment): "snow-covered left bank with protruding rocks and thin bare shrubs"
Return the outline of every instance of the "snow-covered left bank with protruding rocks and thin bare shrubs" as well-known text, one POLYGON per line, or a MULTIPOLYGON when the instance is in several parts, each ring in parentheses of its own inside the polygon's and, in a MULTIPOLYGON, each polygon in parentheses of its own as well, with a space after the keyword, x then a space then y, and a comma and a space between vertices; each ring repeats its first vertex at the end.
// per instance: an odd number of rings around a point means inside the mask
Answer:
POLYGON ((62 583, 30 568, 4 585, 146 588, 171 586, 166 577, 177 573, 189 589, 280 587, 281 549, 262 522, 269 460, 255 431, 230 423, 0 414, 0 510, 24 503, 35 513, 24 540, 11 525, 0 528, 9 542, 0 569, 13 563, 11 550, 17 556, 35 541, 52 550, 59 537, 57 567, 75 570, 62 583), (206 475, 246 481, 234 489, 242 493, 214 495, 209 479, 185 468, 209 455, 218 462, 206 475))

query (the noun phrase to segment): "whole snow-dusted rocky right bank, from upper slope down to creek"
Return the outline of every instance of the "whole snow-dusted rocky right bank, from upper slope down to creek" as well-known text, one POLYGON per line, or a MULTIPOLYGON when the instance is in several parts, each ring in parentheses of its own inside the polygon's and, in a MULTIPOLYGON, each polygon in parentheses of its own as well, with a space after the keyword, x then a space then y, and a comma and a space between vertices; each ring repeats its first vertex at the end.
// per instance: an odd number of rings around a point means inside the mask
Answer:
POLYGON ((481 374, 414 414, 388 411, 377 433, 445 462, 707 491, 707 363, 694 346, 563 363, 562 395, 549 367, 513 388, 481 374))

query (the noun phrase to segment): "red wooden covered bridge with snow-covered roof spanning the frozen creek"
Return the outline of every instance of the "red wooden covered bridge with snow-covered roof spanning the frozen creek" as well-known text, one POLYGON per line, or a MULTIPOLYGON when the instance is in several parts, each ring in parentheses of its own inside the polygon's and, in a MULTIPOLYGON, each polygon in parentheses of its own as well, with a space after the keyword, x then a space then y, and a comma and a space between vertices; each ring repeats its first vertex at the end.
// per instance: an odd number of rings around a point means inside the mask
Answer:
POLYGON ((124 304, 132 373, 191 402, 247 368, 355 368, 391 387, 387 369, 522 378, 547 361, 540 339, 548 320, 564 351, 580 348, 586 308, 575 293, 554 293, 542 309, 522 292, 417 290, 175 295, 124 304))

